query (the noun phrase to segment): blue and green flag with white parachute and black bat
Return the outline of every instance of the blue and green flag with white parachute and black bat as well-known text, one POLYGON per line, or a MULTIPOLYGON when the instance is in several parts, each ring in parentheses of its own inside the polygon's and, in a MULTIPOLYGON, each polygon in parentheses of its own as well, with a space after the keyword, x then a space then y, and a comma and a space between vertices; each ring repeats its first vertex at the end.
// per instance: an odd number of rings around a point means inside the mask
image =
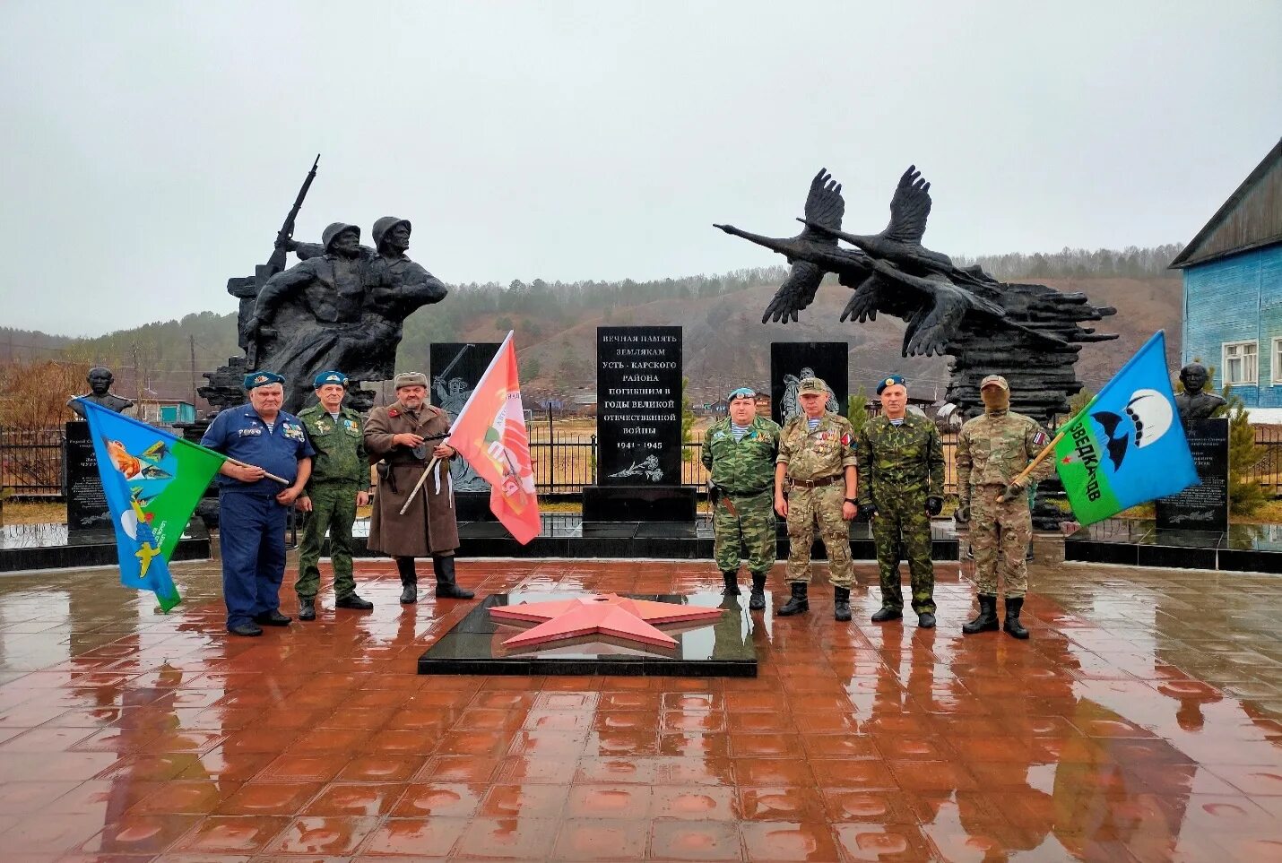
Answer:
POLYGON ((1082 524, 1197 483, 1167 373, 1164 331, 1060 431, 1055 467, 1082 524))

